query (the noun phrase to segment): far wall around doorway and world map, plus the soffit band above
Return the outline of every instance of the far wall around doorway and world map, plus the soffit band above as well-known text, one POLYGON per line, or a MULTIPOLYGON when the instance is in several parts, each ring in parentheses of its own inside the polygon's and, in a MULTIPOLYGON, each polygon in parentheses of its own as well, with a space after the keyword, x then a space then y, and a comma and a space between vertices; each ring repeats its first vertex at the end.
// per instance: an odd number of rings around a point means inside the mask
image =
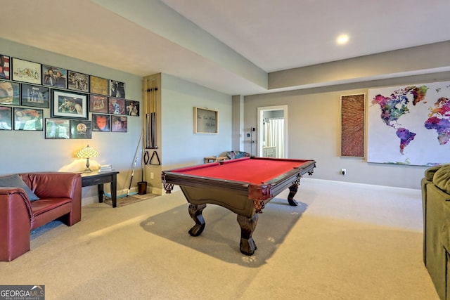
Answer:
MULTIPOLYGON (((368 89, 449 81, 449 51, 450 41, 443 41, 273 72, 269 90, 278 92, 245 96, 244 128, 259 127, 257 107, 288 105, 288 157, 315 159, 314 178, 419 189, 426 167, 340 157, 340 96, 365 93, 367 112, 368 89), (347 174, 342 176, 340 169, 347 174)), ((257 143, 257 134, 252 138, 257 143)), ((256 155, 250 141, 245 150, 256 155)))

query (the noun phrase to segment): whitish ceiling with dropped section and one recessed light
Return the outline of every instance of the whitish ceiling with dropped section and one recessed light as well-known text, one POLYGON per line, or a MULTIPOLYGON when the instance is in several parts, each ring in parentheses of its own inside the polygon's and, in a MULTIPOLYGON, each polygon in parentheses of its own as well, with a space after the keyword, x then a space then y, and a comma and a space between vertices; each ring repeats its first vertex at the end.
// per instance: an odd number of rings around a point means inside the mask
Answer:
POLYGON ((450 40, 449 0, 4 0, 1 11, 1 38, 230 95, 267 92, 269 72, 450 40))

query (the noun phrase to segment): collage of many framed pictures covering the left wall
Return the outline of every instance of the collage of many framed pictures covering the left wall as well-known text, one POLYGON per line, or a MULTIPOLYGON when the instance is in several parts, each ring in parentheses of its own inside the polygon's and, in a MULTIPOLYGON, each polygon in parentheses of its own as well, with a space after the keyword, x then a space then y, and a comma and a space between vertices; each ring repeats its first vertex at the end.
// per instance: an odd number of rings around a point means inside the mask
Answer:
POLYGON ((44 130, 46 139, 127 132, 139 101, 125 96, 124 82, 0 54, 0 131, 44 130))

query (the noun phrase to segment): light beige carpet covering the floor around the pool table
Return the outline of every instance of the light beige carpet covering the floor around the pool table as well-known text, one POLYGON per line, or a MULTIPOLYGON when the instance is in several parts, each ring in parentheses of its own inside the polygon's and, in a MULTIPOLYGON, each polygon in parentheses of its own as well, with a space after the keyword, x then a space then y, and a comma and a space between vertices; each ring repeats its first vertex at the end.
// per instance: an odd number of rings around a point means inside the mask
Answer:
POLYGON ((120 209, 83 207, 82 222, 32 240, 0 263, 2 285, 45 285, 46 299, 438 299, 423 265, 420 190, 303 178, 259 216, 253 256, 236 214, 208 205, 199 237, 181 192, 120 209))

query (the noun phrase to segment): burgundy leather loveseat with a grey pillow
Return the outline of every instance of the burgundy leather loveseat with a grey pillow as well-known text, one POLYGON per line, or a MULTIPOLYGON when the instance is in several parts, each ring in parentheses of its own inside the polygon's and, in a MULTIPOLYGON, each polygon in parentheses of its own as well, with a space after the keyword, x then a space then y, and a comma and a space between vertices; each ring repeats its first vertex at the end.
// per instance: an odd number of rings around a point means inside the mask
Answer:
POLYGON ((0 183, 5 178, 0 187, 0 261, 12 261, 29 251, 31 230, 58 218, 67 226, 81 220, 80 174, 15 174, 1 176, 0 183), (18 181, 26 186, 15 184, 18 181))

